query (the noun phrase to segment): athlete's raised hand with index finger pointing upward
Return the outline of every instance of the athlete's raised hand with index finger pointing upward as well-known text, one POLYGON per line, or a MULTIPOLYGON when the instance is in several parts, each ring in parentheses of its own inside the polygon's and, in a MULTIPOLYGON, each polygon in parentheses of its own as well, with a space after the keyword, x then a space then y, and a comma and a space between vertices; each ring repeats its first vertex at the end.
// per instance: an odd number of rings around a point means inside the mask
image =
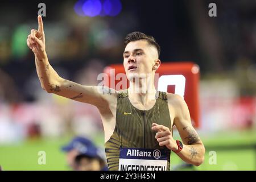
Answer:
POLYGON ((44 38, 44 26, 42 16, 38 16, 38 30, 31 30, 27 36, 27 46, 32 49, 36 55, 42 55, 46 51, 46 40, 44 38))

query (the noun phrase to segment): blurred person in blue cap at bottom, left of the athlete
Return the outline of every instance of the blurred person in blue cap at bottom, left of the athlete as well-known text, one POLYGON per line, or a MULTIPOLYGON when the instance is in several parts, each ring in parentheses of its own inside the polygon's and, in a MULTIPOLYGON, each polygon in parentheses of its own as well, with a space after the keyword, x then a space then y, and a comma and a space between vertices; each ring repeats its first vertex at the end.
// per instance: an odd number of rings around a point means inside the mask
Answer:
POLYGON ((108 170, 104 152, 87 138, 75 137, 67 146, 62 147, 62 150, 67 152, 67 163, 73 170, 108 170))

